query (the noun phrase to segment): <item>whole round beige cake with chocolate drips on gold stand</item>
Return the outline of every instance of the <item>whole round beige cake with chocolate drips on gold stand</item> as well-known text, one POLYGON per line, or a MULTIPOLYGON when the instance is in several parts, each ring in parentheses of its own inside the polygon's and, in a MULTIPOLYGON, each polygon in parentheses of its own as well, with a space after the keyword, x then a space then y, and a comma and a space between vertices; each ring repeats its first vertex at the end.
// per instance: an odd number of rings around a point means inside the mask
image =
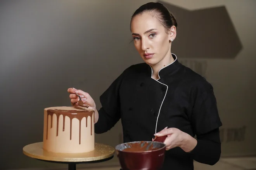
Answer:
POLYGON ((43 149, 55 153, 94 150, 94 111, 81 107, 44 109, 43 149))

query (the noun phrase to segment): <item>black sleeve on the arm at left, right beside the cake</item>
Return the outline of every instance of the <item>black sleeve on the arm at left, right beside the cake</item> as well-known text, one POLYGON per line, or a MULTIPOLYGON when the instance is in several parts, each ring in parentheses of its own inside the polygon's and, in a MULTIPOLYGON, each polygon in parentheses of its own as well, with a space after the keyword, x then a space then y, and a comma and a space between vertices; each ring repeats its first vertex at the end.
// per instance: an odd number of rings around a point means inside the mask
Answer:
POLYGON ((121 118, 119 103, 119 88, 122 84, 124 72, 112 82, 100 96, 102 107, 98 110, 99 119, 94 125, 94 132, 101 134, 109 131, 121 118))

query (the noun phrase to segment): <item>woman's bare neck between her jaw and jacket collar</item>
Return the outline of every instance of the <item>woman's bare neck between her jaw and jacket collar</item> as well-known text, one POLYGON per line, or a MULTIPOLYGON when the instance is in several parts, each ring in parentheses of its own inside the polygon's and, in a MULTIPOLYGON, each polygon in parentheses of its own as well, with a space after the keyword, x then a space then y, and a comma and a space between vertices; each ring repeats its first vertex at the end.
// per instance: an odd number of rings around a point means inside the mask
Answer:
POLYGON ((153 69, 152 78, 156 80, 159 79, 159 76, 158 76, 159 70, 171 64, 172 62, 174 62, 173 56, 171 55, 171 52, 168 52, 166 56, 163 58, 163 60, 161 60, 159 63, 155 65, 151 65, 153 69))

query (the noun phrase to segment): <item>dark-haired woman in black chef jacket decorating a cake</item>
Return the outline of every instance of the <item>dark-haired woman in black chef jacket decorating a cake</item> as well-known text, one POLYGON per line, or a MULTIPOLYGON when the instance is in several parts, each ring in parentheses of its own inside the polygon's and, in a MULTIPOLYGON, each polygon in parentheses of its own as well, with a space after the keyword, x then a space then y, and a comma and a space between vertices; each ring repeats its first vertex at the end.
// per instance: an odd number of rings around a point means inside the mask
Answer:
POLYGON ((94 108, 95 133, 107 132, 121 118, 125 143, 168 135, 162 169, 192 170, 193 160, 208 165, 219 160, 222 124, 211 84, 171 53, 176 27, 161 3, 142 5, 131 18, 131 33, 145 63, 123 71, 100 96, 100 110, 88 93, 68 92, 71 102, 78 102, 78 93, 94 108))

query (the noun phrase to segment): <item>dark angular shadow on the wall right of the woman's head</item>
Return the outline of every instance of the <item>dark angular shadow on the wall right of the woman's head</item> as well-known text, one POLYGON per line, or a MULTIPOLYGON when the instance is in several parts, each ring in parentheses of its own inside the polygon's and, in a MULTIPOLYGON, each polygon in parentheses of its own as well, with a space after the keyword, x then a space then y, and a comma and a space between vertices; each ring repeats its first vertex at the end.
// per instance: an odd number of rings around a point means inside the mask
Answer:
POLYGON ((187 10, 162 3, 178 22, 172 52, 180 58, 234 59, 242 44, 225 6, 187 10))

